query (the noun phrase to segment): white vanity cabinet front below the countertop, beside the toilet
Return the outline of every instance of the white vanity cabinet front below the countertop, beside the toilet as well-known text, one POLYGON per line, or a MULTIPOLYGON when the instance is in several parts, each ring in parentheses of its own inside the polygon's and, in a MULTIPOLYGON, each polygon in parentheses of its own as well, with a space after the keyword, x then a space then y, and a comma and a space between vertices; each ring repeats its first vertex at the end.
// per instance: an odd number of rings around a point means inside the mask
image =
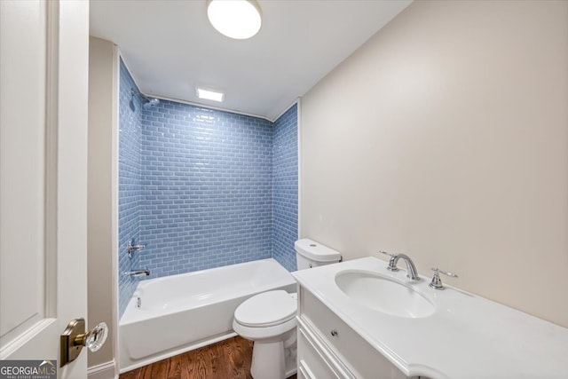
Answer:
POLYGON ((299 379, 407 379, 302 286, 298 286, 297 317, 299 379))

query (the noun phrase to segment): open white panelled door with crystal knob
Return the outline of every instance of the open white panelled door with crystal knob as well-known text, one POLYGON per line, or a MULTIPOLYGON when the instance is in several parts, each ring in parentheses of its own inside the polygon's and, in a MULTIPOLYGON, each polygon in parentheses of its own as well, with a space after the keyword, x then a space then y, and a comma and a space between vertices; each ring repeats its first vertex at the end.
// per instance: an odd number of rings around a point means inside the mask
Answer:
POLYGON ((87 315, 88 38, 88 2, 0 0, 0 359, 73 379, 87 353, 59 368, 59 335, 87 315))

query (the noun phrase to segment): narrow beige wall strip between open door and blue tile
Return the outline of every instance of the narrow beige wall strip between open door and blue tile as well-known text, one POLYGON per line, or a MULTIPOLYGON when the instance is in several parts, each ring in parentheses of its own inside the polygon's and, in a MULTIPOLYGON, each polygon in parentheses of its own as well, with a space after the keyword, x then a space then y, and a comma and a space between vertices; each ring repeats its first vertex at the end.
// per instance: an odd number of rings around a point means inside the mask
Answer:
POLYGON ((117 328, 118 52, 114 43, 91 37, 89 54, 88 328, 101 321, 110 328, 103 347, 89 352, 89 367, 109 369, 117 328))

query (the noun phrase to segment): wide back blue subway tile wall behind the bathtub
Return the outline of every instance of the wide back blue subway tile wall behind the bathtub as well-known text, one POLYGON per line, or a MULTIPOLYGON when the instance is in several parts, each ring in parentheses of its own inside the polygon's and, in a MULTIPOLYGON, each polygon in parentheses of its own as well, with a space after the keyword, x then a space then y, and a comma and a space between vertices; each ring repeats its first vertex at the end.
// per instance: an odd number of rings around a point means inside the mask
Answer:
POLYGON ((151 278, 272 256, 272 134, 264 119, 167 100, 142 110, 151 278))

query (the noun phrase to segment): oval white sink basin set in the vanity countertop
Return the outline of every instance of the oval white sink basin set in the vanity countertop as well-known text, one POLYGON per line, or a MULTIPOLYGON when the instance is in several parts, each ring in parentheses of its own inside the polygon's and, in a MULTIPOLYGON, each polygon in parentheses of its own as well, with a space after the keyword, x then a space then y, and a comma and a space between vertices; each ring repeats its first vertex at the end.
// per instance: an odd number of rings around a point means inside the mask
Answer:
POLYGON ((393 316, 415 319, 428 317, 435 310, 414 288, 376 272, 337 272, 335 284, 359 304, 393 316))

